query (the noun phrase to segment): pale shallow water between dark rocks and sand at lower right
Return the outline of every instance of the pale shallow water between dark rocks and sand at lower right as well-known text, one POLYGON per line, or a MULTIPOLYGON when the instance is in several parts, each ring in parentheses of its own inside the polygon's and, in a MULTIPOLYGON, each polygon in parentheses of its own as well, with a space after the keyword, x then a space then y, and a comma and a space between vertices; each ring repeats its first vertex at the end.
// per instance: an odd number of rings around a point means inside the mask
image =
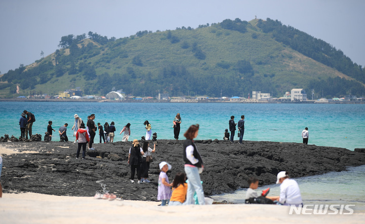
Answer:
MULTIPOLYGON (((365 212, 365 166, 350 167, 348 171, 330 172, 323 175, 296 178, 301 190, 303 203, 307 205, 355 205, 354 212, 365 212)), ((280 194, 280 185, 272 184, 258 188, 256 191, 270 188, 269 196, 280 194)), ((244 203, 246 189, 234 194, 212 196, 214 200, 226 200, 244 203)))

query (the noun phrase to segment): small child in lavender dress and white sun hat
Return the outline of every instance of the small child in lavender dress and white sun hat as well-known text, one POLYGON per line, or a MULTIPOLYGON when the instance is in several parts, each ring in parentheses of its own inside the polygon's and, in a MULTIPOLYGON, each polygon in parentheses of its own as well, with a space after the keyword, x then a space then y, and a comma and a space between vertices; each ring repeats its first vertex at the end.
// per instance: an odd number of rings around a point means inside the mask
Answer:
POLYGON ((166 162, 161 162, 159 167, 161 172, 159 175, 157 200, 161 201, 161 206, 165 206, 169 203, 171 198, 170 186, 172 186, 172 183, 169 183, 166 174, 166 172, 171 169, 171 165, 166 162))

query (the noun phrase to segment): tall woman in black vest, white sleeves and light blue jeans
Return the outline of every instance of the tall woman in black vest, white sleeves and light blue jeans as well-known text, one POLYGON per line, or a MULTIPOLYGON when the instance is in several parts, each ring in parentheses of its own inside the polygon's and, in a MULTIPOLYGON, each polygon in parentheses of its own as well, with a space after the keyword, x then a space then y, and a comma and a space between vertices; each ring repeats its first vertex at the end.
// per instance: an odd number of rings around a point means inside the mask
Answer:
POLYGON ((198 152, 198 149, 194 143, 194 138, 198 136, 199 125, 192 125, 185 132, 184 136, 187 138, 184 141, 184 161, 185 161, 185 173, 188 177, 188 192, 187 192, 187 205, 194 205, 194 192, 198 196, 199 205, 204 205, 204 191, 203 185, 200 180, 200 173, 203 172, 204 165, 203 160, 198 152))

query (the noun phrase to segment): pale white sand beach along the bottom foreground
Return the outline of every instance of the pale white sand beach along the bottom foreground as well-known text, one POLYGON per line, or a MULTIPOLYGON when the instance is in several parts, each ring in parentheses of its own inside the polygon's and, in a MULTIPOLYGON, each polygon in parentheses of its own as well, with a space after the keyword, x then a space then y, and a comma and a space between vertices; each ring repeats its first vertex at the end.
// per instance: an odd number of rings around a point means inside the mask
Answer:
POLYGON ((158 206, 160 202, 108 201, 35 193, 3 194, 1 223, 364 223, 365 214, 289 215, 278 205, 158 206))

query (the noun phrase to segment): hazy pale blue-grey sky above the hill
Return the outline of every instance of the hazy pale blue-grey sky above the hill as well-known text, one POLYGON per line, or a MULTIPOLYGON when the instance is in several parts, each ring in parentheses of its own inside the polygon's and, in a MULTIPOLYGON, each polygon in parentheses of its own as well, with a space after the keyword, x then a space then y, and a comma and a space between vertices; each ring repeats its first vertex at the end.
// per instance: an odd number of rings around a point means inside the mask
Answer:
POLYGON ((364 66, 364 9, 362 0, 0 0, 0 71, 33 63, 41 51, 53 53, 68 34, 93 31, 119 39, 255 15, 330 43, 364 66))

